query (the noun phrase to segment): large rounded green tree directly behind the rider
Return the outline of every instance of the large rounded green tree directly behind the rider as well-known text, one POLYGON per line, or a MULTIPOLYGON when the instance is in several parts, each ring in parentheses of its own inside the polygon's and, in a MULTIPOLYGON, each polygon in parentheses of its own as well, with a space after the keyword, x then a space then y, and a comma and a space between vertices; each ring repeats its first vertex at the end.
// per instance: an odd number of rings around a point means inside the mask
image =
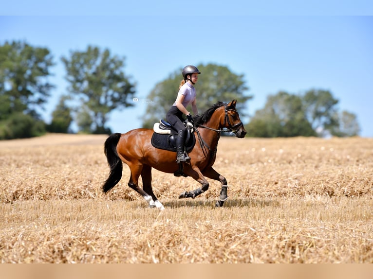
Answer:
MULTIPOLYGON (((246 101, 252 96, 245 95, 249 88, 245 85, 243 74, 235 74, 227 67, 216 64, 200 64, 197 68, 202 72, 195 85, 198 111, 202 113, 218 101, 230 102, 236 99, 237 109, 244 117, 246 101)), ((183 79, 181 72, 181 68, 174 71, 150 91, 146 113, 142 117, 143 127, 151 128, 154 122, 166 117, 168 109, 176 100, 183 79)))

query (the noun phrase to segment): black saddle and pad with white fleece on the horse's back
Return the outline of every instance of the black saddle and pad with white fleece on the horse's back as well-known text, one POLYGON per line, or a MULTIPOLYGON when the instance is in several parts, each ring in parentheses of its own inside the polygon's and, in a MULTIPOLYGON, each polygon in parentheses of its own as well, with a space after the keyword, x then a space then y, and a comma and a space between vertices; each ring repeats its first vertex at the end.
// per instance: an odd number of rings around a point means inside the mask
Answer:
MULTIPOLYGON (((184 122, 184 125, 186 127, 185 148, 186 152, 189 153, 196 143, 196 137, 194 136, 193 126, 188 122, 184 122)), ((154 123, 153 131, 151 145, 155 148, 176 152, 177 133, 171 129, 170 123, 160 120, 159 123, 154 123)))

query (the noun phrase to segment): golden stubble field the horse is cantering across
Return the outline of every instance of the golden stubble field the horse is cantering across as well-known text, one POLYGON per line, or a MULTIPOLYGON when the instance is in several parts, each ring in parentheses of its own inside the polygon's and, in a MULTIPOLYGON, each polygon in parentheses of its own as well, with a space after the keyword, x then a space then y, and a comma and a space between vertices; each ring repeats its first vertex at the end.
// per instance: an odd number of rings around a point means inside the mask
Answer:
POLYGON ((373 263, 373 139, 221 138, 220 183, 153 170, 108 194, 103 135, 0 141, 0 262, 373 263), (141 180, 140 180, 141 183, 141 180))

